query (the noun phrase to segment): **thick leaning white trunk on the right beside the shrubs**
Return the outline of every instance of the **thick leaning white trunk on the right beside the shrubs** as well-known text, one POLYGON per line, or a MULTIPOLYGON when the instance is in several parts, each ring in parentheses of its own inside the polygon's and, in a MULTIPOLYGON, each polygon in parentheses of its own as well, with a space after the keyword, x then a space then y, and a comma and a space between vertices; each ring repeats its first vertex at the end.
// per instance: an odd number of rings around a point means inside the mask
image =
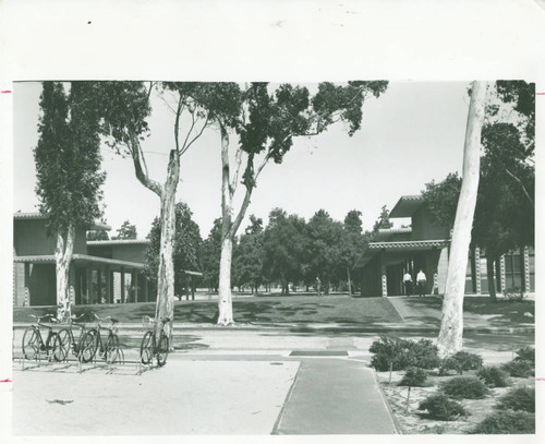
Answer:
POLYGON ((463 148, 462 187, 456 211, 446 290, 443 300, 441 324, 437 338, 437 346, 441 356, 452 355, 462 348, 463 293, 471 228, 479 189, 481 130, 484 119, 486 88, 486 82, 473 82, 463 148))

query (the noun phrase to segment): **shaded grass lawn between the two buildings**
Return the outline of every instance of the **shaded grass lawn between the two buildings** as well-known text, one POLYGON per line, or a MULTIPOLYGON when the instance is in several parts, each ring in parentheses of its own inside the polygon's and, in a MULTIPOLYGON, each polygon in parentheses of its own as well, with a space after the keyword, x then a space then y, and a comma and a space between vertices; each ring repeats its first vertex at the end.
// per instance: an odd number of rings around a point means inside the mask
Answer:
MULTIPOLYGON (((120 322, 140 322, 142 316, 155 315, 155 302, 137 304, 78 305, 74 313, 95 312, 110 315, 120 322)), ((403 320, 386 298, 349 298, 347 296, 256 297, 233 300, 234 321, 240 324, 338 323, 367 325, 370 323, 401 323, 403 320)), ((15 308, 14 322, 31 322, 28 314, 55 313, 55 308, 15 308)), ((217 301, 181 301, 174 303, 174 319, 180 323, 214 324, 217 301)))

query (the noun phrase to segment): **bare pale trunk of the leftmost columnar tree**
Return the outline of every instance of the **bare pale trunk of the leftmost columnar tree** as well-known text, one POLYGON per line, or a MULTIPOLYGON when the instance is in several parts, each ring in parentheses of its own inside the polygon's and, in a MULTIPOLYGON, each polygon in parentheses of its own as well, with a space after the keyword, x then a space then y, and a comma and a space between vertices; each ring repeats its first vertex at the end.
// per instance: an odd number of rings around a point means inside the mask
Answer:
POLYGON ((57 319, 68 320, 72 314, 69 274, 72 254, 74 252, 75 228, 71 224, 64 232, 57 235, 57 247, 55 249, 56 280, 57 280, 57 319))

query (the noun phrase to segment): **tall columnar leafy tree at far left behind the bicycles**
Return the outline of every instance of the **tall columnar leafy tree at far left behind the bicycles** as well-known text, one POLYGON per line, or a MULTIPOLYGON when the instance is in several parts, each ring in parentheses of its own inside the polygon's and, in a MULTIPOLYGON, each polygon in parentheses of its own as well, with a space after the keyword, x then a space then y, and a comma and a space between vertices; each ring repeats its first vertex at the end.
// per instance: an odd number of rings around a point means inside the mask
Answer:
POLYGON ((96 82, 72 82, 66 93, 60 82, 44 82, 36 161, 36 193, 40 213, 56 237, 58 317, 71 314, 69 269, 76 229, 101 216, 99 107, 96 82))

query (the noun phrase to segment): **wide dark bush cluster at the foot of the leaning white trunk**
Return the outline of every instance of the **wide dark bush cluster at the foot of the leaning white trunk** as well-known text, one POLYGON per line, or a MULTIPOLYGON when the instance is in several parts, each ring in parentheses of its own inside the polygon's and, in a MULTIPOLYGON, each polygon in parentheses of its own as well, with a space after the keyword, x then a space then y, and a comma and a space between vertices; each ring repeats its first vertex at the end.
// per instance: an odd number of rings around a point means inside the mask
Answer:
POLYGON ((437 347, 429 339, 413 341, 397 337, 380 336, 375 340, 370 351, 373 355, 371 365, 378 371, 404 370, 410 367, 435 369, 440 359, 437 347))

